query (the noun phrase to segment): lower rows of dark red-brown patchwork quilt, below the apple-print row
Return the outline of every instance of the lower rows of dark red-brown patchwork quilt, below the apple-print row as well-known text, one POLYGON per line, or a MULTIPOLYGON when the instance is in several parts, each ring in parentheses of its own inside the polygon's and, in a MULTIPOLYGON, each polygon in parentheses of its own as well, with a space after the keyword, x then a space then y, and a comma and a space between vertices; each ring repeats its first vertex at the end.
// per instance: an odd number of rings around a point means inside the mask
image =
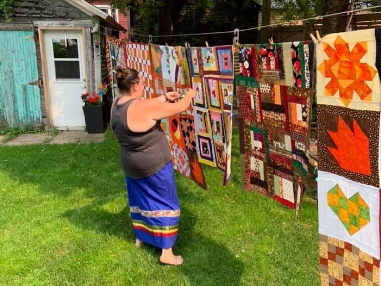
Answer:
POLYGON ((308 172, 312 91, 236 75, 245 189, 299 210, 308 172))

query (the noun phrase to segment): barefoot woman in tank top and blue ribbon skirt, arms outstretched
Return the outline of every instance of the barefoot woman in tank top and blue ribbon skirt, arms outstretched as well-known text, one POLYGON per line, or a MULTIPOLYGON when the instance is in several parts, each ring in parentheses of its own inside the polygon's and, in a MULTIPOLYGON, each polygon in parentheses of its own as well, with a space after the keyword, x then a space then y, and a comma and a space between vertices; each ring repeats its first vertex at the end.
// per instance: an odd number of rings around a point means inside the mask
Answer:
POLYGON ((111 127, 120 144, 136 246, 146 242, 159 247, 162 249, 162 263, 181 265, 183 258, 172 252, 177 238, 180 205, 172 156, 160 120, 186 110, 195 93, 190 89, 175 103, 179 98, 176 92, 139 100, 144 86, 138 71, 117 68, 116 72, 122 95, 112 106, 111 127))

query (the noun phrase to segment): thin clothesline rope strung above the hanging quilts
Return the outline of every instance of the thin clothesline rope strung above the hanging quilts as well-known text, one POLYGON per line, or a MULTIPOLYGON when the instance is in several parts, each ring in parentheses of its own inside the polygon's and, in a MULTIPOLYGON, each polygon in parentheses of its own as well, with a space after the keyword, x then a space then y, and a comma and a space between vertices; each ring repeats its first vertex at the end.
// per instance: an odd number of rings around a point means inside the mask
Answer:
MULTIPOLYGON (((309 20, 321 20, 321 19, 324 19, 324 18, 327 18, 327 17, 338 16, 338 15, 343 15, 343 14, 349 14, 349 13, 354 13, 354 12, 360 12, 360 11, 369 10, 369 9, 375 9, 375 8, 381 8, 381 5, 374 6, 374 7, 364 7, 364 8, 360 8, 360 9, 347 10, 347 11, 344 11, 344 12, 332 13, 332 14, 321 15, 321 16, 313 16, 313 17, 304 18, 304 19, 296 19, 296 20, 281 22, 281 23, 277 23, 277 24, 258 26, 258 27, 247 28, 247 29, 242 29, 242 30, 239 29, 239 32, 260 30, 262 28, 276 27, 276 26, 291 24, 291 23, 294 23, 294 22, 306 22, 306 21, 309 21, 309 20)), ((109 31, 120 32, 119 30, 110 29, 110 28, 107 28, 107 27, 104 27, 104 26, 101 26, 101 27, 103 27, 104 29, 109 30, 109 31)), ((133 34, 133 35, 136 35, 136 36, 141 36, 141 37, 160 38, 160 37, 180 37, 180 36, 202 36, 202 35, 214 35, 214 34, 229 34, 229 33, 234 33, 234 30, 233 31, 220 31, 220 32, 207 32, 207 33, 157 35, 157 36, 132 33, 131 31, 127 31, 126 33, 128 33, 130 35, 133 34)))

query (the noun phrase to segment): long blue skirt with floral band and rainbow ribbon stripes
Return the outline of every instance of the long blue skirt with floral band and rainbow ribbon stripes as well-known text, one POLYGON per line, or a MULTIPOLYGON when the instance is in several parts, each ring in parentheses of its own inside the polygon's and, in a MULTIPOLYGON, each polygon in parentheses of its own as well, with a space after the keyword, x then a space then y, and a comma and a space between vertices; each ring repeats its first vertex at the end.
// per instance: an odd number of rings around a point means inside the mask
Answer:
POLYGON ((159 248, 173 247, 177 238, 180 204, 172 162, 147 178, 126 176, 126 183, 136 237, 159 248))

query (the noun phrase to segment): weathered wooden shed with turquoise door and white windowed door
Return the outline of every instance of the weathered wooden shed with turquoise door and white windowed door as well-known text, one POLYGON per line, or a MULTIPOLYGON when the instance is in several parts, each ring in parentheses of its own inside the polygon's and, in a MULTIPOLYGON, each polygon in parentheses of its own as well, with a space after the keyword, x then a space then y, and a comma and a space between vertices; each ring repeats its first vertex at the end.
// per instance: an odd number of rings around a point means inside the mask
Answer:
POLYGON ((85 0, 14 0, 13 10, 10 22, 0 15, 0 128, 84 129, 80 96, 106 78, 104 34, 126 30, 85 0))

